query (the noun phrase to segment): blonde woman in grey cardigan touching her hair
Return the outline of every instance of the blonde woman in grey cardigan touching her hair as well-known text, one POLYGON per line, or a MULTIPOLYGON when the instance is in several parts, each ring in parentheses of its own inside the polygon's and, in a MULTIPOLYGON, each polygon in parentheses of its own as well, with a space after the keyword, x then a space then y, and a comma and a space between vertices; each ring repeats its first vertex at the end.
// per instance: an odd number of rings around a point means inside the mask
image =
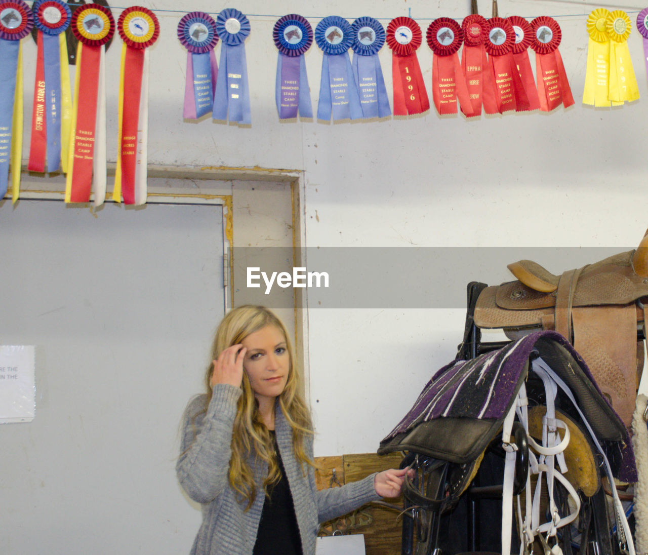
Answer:
POLYGON ((207 394, 185 410, 176 471, 203 504, 192 555, 314 555, 318 523, 397 497, 405 470, 318 491, 313 432, 288 333, 264 307, 222 320, 207 394))

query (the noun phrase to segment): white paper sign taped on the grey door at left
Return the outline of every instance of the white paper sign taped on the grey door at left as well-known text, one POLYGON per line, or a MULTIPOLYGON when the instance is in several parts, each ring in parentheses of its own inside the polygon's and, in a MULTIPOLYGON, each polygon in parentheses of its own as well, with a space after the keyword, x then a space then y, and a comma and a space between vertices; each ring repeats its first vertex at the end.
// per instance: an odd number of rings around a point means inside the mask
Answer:
POLYGON ((36 409, 34 346, 0 346, 0 423, 30 422, 36 409))

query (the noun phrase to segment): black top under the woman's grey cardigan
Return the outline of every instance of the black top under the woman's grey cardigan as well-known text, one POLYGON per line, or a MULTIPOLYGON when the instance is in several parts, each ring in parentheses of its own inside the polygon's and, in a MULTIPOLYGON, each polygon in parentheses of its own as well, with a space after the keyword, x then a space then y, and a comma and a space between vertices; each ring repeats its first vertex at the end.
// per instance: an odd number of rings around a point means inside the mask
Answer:
POLYGON ((263 504, 253 555, 301 555, 301 537, 288 478, 277 448, 275 432, 271 431, 270 434, 275 444, 281 478, 268 488, 270 497, 266 497, 263 504))

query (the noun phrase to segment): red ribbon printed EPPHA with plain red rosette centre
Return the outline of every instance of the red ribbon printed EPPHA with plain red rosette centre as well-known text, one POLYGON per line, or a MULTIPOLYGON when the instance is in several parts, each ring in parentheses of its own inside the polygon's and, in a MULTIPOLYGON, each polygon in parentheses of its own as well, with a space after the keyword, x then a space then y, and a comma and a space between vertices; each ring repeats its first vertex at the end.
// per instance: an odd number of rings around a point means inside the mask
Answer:
POLYGON ((495 78, 483 45, 485 27, 486 19, 479 14, 471 14, 461 23, 461 30, 463 30, 461 69, 466 78, 472 104, 470 115, 464 112, 468 117, 481 115, 482 104, 485 113, 498 113, 495 78))

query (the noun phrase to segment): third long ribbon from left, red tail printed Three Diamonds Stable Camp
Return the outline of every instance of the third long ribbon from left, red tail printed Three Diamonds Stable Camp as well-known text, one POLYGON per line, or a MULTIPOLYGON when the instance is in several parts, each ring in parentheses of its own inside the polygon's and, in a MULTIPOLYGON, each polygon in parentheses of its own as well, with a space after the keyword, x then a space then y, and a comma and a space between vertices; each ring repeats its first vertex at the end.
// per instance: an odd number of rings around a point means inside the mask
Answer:
POLYGON ((72 14, 76 47, 75 110, 65 183, 65 202, 106 200, 106 49, 115 34, 110 10, 86 4, 72 14))

